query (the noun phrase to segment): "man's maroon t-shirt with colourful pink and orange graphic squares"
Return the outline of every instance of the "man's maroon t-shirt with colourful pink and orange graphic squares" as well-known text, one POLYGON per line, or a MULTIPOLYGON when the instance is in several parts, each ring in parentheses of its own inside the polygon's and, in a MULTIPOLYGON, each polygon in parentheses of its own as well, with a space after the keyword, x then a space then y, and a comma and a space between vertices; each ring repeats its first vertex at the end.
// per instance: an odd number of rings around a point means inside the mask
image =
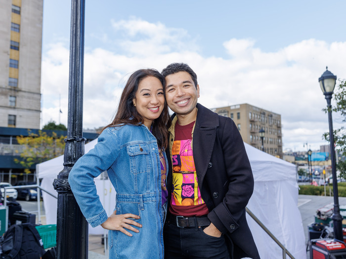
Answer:
POLYGON ((173 186, 170 212, 173 215, 192 217, 209 213, 198 187, 192 151, 192 129, 195 122, 181 126, 177 122, 172 147, 173 186))

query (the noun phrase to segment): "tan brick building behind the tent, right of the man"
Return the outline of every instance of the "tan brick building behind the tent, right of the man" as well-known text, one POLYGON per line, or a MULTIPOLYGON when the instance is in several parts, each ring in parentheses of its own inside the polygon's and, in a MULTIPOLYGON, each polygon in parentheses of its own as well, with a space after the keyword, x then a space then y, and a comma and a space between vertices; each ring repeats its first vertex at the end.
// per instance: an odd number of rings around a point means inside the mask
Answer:
POLYGON ((259 130, 264 130, 263 148, 266 153, 282 158, 281 115, 261 108, 240 104, 213 109, 222 116, 230 117, 237 125, 243 141, 261 149, 259 130))

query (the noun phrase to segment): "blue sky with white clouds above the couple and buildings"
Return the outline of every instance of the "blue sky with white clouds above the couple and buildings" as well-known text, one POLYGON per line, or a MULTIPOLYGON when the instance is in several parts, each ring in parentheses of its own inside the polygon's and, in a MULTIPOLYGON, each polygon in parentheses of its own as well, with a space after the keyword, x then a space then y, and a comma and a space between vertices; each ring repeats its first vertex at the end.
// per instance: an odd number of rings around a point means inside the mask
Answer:
MULTIPOLYGON (((345 0, 86 1, 83 128, 111 122, 132 72, 183 62, 202 105, 279 113, 283 150, 317 150, 329 131, 318 78, 328 66, 346 79, 345 9, 345 0)), ((70 23, 70 0, 44 1, 42 125, 67 125, 70 23)))

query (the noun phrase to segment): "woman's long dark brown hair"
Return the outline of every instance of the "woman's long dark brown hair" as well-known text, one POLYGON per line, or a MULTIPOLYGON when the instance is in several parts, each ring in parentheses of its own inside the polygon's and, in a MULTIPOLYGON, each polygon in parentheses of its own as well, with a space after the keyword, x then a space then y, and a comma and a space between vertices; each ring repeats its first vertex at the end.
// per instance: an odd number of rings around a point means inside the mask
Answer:
MULTIPOLYGON (((133 106, 132 100, 135 98, 135 94, 138 90, 138 85, 144 78, 148 76, 156 77, 160 80, 164 87, 164 93, 166 88, 165 78, 155 69, 140 69, 130 75, 128 82, 125 85, 123 93, 120 98, 118 111, 115 114, 114 120, 104 127, 102 131, 108 127, 115 127, 124 124, 139 125, 143 124, 143 117, 137 112, 137 109, 133 106)), ((168 147, 168 128, 171 124, 170 115, 168 113, 168 106, 165 100, 164 110, 160 116, 154 120, 152 134, 157 140, 159 148, 168 147)))

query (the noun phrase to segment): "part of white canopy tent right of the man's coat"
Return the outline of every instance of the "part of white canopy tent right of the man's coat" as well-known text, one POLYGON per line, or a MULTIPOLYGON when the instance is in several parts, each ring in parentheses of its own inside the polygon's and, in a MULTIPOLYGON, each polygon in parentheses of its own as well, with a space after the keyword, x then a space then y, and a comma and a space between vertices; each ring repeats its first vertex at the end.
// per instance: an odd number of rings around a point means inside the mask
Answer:
MULTIPOLYGON (((248 209, 295 258, 306 259, 303 222, 298 209, 296 166, 248 144, 245 148, 255 180, 248 209)), ((248 214, 247 220, 260 257, 282 258, 279 245, 248 214)))

